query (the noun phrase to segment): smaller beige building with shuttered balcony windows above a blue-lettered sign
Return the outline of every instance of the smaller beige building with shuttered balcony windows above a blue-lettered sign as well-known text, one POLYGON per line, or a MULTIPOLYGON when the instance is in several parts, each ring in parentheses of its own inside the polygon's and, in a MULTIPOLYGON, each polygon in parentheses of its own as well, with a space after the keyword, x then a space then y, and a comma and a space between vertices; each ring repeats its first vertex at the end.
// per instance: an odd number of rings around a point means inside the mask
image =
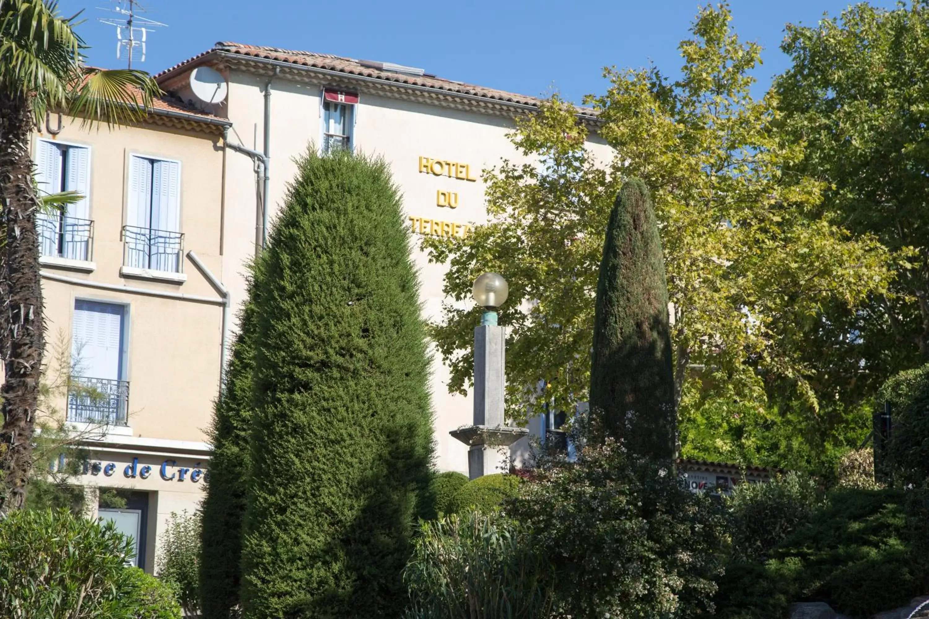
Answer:
POLYGON ((88 512, 132 535, 149 572, 171 512, 203 494, 230 314, 227 124, 165 99, 135 126, 51 115, 33 136, 40 192, 84 196, 37 218, 46 376, 70 379, 47 412, 89 454, 88 512))

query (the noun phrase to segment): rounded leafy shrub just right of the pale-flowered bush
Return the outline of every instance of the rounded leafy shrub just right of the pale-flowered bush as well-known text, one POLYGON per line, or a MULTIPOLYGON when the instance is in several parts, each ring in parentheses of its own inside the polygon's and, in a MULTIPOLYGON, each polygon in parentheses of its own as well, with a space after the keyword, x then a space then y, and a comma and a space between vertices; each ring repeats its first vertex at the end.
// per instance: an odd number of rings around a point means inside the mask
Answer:
POLYGON ((789 472, 763 484, 739 484, 726 497, 732 543, 742 557, 765 558, 822 504, 816 482, 789 472))

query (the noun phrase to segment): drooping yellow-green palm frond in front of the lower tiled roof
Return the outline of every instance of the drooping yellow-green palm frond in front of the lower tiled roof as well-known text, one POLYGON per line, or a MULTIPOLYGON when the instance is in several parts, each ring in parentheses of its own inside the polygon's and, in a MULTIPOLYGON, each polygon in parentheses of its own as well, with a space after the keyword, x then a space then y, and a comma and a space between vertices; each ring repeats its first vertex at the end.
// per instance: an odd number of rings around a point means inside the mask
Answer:
POLYGON ((68 112, 80 116, 82 125, 95 122, 114 124, 143 120, 161 88, 145 71, 135 69, 93 69, 73 71, 68 112))

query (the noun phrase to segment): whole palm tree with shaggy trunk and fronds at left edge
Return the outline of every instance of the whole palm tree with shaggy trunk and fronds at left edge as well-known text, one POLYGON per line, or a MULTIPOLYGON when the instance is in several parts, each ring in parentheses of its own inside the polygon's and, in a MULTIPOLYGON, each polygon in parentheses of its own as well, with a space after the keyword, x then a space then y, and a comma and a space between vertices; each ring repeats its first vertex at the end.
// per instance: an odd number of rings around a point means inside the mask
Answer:
POLYGON ((33 126, 49 110, 85 125, 138 122, 161 92, 143 71, 85 67, 76 18, 59 15, 55 0, 0 0, 0 516, 26 497, 45 344, 33 126))

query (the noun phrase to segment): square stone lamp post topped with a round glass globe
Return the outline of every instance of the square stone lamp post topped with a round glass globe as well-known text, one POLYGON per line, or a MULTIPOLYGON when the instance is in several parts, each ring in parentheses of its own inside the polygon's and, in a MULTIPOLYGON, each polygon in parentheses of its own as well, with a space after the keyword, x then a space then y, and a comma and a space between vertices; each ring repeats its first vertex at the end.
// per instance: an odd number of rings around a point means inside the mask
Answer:
POLYGON ((509 293, 498 273, 485 273, 474 282, 474 300, 484 308, 480 326, 474 329, 474 419, 450 433, 468 445, 468 477, 508 471, 510 445, 529 433, 525 428, 504 425, 504 328, 497 326, 497 308, 509 293))

